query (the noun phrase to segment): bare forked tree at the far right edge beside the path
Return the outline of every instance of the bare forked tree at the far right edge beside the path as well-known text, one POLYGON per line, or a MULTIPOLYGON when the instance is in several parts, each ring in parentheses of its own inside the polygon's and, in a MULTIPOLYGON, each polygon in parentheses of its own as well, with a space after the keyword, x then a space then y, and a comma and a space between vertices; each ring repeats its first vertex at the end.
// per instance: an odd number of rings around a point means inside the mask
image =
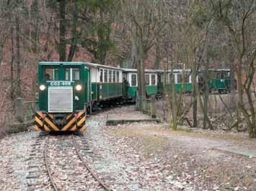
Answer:
MULTIPOLYGON (((253 17, 255 17, 256 3, 250 1, 211 1, 216 17, 221 20, 228 29, 237 56, 237 88, 238 88, 238 111, 242 112, 247 121, 249 136, 256 136, 256 116, 252 101, 251 85, 254 77, 254 62, 256 51, 250 40, 250 32, 255 31, 253 17), (243 83, 243 70, 246 80, 243 83), (249 104, 244 104, 243 92, 247 95, 249 104), (249 110, 247 110, 249 106, 249 110)), ((237 116, 237 124, 241 121, 240 112, 237 116)))

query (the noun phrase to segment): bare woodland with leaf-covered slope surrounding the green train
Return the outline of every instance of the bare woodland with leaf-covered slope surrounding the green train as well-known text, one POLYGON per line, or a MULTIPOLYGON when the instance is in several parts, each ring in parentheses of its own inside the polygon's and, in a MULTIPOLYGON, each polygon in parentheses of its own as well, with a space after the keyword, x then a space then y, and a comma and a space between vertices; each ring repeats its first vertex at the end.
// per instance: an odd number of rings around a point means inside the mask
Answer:
POLYGON ((36 100, 39 61, 82 61, 136 68, 143 98, 145 69, 191 69, 192 93, 166 91, 158 106, 169 128, 187 120, 255 138, 255 49, 255 0, 0 0, 0 134, 17 98, 36 100), (198 71, 207 80, 221 68, 231 92, 201 92, 198 71))

